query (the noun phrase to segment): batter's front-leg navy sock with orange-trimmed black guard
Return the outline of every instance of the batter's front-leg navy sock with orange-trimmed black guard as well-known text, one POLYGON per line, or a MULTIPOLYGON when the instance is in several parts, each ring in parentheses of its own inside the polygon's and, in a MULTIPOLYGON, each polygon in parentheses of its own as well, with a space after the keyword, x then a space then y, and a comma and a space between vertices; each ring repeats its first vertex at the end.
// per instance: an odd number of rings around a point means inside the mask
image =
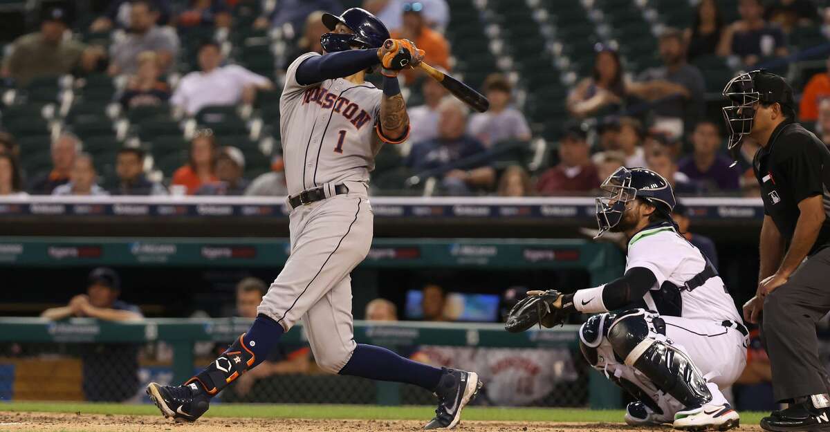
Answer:
POLYGON ((284 332, 273 318, 257 315, 245 334, 237 337, 222 355, 184 384, 198 381, 209 396, 217 395, 237 377, 263 362, 280 342, 284 332))

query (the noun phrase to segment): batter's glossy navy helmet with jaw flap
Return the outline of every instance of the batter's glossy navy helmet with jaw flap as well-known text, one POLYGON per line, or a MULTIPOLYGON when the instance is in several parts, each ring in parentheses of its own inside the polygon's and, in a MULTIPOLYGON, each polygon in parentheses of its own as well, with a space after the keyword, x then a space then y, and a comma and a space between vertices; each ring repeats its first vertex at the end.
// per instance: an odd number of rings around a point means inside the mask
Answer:
POLYGON ((352 7, 339 17, 330 13, 323 14, 323 25, 334 30, 341 23, 351 29, 352 34, 325 33, 320 36, 320 45, 326 52, 348 51, 352 46, 360 48, 380 48, 389 38, 389 31, 377 17, 359 7, 352 7))

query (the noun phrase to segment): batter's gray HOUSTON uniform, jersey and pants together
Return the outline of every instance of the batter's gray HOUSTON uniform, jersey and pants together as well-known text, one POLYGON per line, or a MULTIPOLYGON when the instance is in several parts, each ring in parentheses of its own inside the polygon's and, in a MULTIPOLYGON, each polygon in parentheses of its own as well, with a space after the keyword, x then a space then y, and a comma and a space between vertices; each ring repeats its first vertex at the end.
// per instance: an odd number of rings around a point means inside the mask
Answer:
POLYGON ((369 171, 380 148, 375 119, 382 92, 342 78, 300 85, 288 67, 280 100, 280 131, 288 193, 343 183, 346 194, 291 211, 291 255, 257 309, 287 330, 303 320, 315 361, 337 373, 356 344, 349 273, 372 245, 369 171))

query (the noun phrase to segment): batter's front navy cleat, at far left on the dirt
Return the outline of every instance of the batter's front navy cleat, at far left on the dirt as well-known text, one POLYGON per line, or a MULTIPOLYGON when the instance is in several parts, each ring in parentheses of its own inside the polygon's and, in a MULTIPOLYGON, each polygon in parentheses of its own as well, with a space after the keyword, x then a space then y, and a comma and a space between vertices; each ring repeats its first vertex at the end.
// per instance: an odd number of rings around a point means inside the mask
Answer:
POLYGON ((154 382, 147 386, 150 396, 164 418, 176 421, 196 421, 210 404, 207 393, 195 382, 187 386, 162 386, 154 382))

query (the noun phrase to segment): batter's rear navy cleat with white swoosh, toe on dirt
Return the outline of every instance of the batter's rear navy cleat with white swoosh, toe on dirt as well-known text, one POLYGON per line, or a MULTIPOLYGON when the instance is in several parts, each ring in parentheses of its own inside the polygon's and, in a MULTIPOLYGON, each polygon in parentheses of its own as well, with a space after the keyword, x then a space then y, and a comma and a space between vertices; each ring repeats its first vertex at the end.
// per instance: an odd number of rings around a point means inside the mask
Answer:
POLYGON ((438 381, 435 396, 440 400, 435 418, 423 429, 452 429, 461 421, 461 410, 476 399, 478 391, 484 386, 476 372, 447 369, 438 381))

